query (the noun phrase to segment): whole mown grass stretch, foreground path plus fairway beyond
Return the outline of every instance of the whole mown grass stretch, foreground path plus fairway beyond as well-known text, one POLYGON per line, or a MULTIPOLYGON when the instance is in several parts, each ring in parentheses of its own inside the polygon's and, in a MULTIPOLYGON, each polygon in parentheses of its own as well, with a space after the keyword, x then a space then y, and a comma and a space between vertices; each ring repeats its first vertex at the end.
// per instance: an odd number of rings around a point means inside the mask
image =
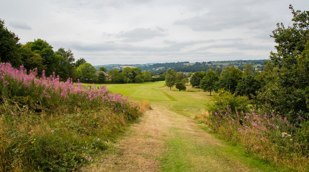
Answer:
MULTIPOLYGON (((86 85, 86 84, 85 84, 86 85)), ((218 139, 192 117, 205 113, 209 92, 164 87, 164 81, 108 84, 108 89, 149 100, 147 111, 86 171, 276 171, 244 149, 218 139)))

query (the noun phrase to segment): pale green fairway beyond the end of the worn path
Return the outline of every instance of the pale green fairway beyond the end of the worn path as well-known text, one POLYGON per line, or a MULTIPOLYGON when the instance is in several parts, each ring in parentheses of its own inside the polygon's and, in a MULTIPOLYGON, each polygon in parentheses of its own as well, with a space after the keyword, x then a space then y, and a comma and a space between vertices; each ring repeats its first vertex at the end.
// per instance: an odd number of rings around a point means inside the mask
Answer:
MULTIPOLYGON (((175 87, 170 90, 164 86, 165 81, 147 82, 143 84, 106 84, 108 90, 129 96, 130 100, 148 100, 150 104, 160 104, 183 115, 194 117, 205 113, 205 104, 210 103, 209 92, 200 88, 187 86, 187 91, 178 91, 175 87)), ((83 84, 84 86, 88 84, 83 84)), ((103 84, 96 84, 100 86, 103 84)))

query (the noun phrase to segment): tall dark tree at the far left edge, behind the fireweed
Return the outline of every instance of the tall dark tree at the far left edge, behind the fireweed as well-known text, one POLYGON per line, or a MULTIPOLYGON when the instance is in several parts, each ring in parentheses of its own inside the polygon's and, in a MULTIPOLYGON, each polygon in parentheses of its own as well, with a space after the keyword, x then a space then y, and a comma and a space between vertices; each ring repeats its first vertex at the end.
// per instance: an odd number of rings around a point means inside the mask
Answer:
POLYGON ((15 68, 22 64, 18 41, 18 36, 4 27, 4 20, 0 19, 0 59, 1 62, 11 63, 15 68))

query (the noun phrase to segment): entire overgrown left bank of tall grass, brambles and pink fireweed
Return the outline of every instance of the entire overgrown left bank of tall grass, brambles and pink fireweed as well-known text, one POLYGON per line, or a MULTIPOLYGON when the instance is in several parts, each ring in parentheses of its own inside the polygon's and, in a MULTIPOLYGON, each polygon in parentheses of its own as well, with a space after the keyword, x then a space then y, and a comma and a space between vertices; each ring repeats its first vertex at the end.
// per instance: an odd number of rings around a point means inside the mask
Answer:
POLYGON ((105 86, 0 64, 0 171, 68 171, 106 149, 139 106, 105 86))

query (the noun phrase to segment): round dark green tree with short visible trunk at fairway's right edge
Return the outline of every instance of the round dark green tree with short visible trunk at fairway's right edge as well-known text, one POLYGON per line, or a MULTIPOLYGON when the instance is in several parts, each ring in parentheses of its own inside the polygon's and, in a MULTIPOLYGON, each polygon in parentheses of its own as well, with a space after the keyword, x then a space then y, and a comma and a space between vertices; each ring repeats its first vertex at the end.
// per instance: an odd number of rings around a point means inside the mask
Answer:
POLYGON ((200 82, 200 88, 203 89, 204 92, 209 91, 211 96, 211 91, 215 90, 216 82, 219 80, 216 72, 209 69, 203 79, 200 82))

